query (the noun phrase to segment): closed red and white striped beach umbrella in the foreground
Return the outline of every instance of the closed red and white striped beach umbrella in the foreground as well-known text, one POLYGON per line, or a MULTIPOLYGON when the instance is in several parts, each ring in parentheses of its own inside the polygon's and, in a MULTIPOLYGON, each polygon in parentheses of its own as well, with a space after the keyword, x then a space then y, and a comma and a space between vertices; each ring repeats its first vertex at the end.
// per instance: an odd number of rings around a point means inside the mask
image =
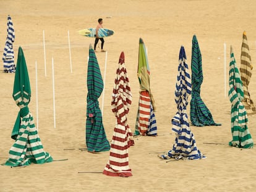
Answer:
POLYGON ((128 148, 134 145, 132 131, 127 123, 127 115, 132 103, 130 83, 124 64, 124 52, 119 58, 119 66, 114 80, 111 107, 116 116, 109 161, 103 174, 109 176, 130 177, 132 170, 129 167, 128 148))

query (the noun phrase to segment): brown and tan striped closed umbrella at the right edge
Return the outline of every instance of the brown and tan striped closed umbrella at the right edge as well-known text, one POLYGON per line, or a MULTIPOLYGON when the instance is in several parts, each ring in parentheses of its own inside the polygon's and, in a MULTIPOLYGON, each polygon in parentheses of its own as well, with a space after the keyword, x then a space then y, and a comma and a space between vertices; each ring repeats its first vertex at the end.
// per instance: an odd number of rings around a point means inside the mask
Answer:
POLYGON ((252 60, 245 31, 242 35, 240 73, 244 88, 244 99, 242 100, 242 104, 244 104, 247 114, 254 114, 256 113, 256 108, 254 106, 254 102, 250 99, 250 93, 248 91, 250 78, 252 77, 252 60))

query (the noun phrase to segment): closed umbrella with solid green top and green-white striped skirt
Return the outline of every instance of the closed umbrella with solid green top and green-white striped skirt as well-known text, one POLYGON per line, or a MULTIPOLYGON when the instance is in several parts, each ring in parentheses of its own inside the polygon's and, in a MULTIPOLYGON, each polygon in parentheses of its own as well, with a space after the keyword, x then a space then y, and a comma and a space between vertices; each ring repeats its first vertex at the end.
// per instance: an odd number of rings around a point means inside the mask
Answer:
POLYGON ((22 48, 19 48, 12 96, 20 111, 12 130, 12 139, 15 143, 9 151, 9 159, 5 165, 20 166, 29 165, 32 162, 43 164, 53 161, 49 153, 43 149, 33 116, 28 109, 31 90, 22 48))

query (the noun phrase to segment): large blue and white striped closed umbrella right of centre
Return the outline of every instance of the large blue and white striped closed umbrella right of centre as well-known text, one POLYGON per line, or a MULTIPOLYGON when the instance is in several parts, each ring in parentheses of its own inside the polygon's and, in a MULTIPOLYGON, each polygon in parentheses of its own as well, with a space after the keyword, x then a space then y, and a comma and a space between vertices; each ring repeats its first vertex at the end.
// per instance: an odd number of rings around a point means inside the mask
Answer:
POLYGON ((168 154, 160 156, 161 159, 175 158, 179 159, 202 159, 205 156, 197 149, 194 135, 189 127, 187 119, 187 104, 191 94, 191 80, 189 68, 186 64, 186 53, 183 46, 179 52, 179 67, 177 73, 177 82, 175 90, 175 102, 177 104, 177 113, 174 115, 171 123, 172 130, 176 134, 173 149, 168 154))

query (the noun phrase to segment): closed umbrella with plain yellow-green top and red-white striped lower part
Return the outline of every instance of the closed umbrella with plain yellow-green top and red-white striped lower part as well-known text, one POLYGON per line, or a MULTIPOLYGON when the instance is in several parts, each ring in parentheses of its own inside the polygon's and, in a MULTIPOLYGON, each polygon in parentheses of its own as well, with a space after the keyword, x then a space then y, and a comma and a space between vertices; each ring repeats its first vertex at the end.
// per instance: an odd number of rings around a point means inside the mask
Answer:
POLYGON ((140 83, 140 99, 137 119, 135 123, 135 135, 157 135, 155 119, 155 101, 150 90, 150 68, 145 44, 139 41, 139 63, 137 72, 140 83))

